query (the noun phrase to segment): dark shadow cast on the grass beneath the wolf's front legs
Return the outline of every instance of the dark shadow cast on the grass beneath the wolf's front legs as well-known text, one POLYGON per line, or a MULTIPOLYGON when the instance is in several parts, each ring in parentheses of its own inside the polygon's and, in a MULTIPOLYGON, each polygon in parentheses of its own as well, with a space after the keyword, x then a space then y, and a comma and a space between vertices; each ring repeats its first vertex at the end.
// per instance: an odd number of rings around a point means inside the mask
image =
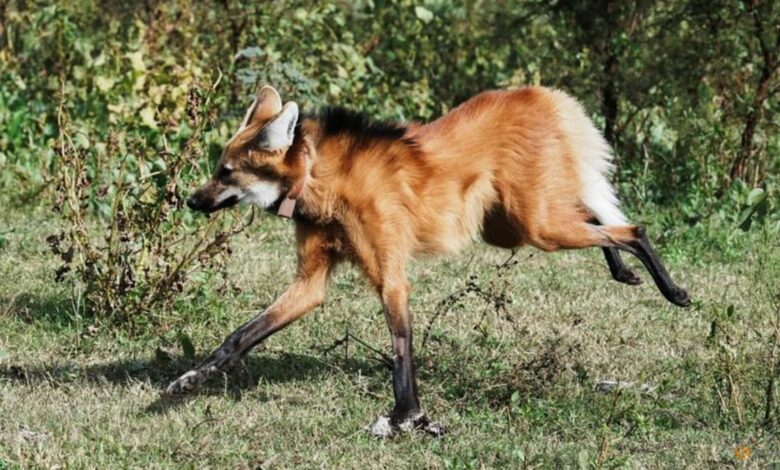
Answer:
MULTIPOLYGON (((203 357, 198 358, 200 359, 203 357)), ((170 358, 158 355, 152 359, 121 359, 86 366, 74 363, 33 367, 6 364, 0 365, 0 383, 51 387, 106 383, 129 387, 138 383, 149 383, 160 391, 160 396, 149 404, 144 412, 160 414, 198 396, 222 395, 240 401, 246 391, 256 389, 263 382, 316 380, 333 370, 354 374, 359 372, 363 375, 385 373, 384 364, 377 361, 260 351, 259 354, 245 357, 242 365, 227 373, 216 375, 192 393, 181 396, 168 396, 162 393, 172 380, 188 371, 196 362, 181 357, 170 358)), ((267 401, 271 397, 262 393, 253 399, 267 401)))

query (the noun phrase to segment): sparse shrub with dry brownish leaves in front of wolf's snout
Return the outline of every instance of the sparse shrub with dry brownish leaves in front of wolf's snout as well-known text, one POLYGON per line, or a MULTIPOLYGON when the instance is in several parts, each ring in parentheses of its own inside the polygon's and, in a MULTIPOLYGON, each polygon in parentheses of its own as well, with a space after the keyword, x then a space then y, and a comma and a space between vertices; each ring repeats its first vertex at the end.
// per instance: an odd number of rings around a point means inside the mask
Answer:
POLYGON ((229 214, 198 223, 181 210, 187 175, 202 154, 210 95, 193 89, 188 104, 193 132, 182 152, 164 150, 153 160, 143 157, 143 142, 121 149, 114 138, 106 146, 76 138, 60 108, 54 210, 65 228, 47 241, 63 262, 57 280, 73 280, 89 313, 122 321, 171 308, 191 281, 224 272, 230 237, 249 223, 229 214))

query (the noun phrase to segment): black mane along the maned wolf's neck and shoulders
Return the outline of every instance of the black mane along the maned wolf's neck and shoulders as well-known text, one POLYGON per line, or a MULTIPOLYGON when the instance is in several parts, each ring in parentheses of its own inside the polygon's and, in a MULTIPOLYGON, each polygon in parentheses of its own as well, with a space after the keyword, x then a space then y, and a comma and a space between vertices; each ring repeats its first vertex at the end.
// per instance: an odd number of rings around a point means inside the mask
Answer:
POLYGON ((328 107, 319 115, 325 135, 350 134, 359 139, 402 139, 406 126, 395 122, 372 121, 366 114, 341 107, 328 107))

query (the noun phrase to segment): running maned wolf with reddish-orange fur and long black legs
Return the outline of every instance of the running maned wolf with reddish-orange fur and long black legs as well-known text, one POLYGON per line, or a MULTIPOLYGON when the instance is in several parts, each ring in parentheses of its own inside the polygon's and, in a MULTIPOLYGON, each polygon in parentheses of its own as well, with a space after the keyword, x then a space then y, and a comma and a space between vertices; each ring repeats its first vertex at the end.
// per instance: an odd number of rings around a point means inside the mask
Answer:
POLYGON ((503 248, 601 247, 612 276, 639 277, 638 257, 670 302, 687 306, 643 230, 609 183, 610 147, 582 106, 557 90, 489 91, 429 124, 380 124, 339 108, 298 120, 271 87, 260 90, 214 176, 187 205, 213 212, 239 202, 295 221, 298 270, 288 289, 200 365, 168 387, 190 390, 325 299, 334 267, 357 264, 376 288, 392 335, 395 407, 370 430, 439 434, 417 398, 408 307, 409 258, 454 253, 477 234, 503 248))

